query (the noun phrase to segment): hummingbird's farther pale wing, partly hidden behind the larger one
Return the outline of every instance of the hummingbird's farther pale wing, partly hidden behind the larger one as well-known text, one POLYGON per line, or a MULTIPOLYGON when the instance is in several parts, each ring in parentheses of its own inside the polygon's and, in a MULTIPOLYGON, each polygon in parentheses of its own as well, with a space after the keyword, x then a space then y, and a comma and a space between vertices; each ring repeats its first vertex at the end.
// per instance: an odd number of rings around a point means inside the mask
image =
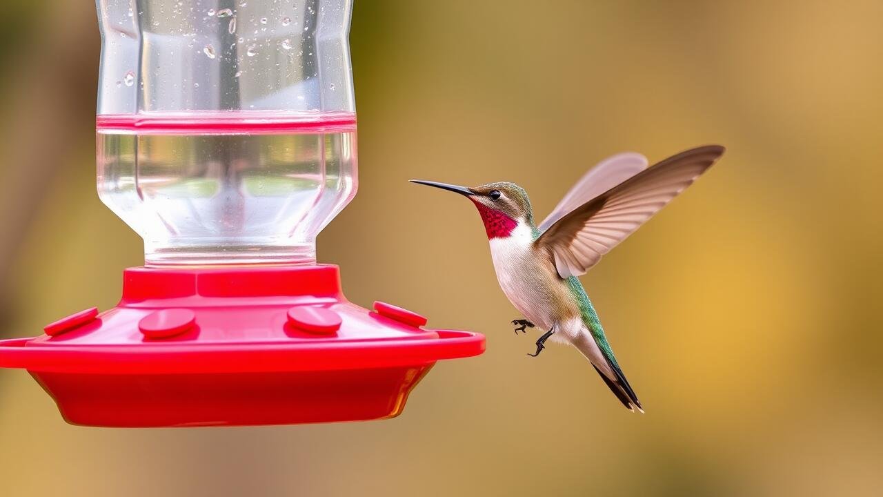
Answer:
POLYGON ((646 167, 647 157, 635 152, 625 152, 602 160, 586 172, 567 195, 564 195, 561 202, 555 205, 555 209, 540 223, 540 231, 546 231, 571 210, 644 171, 646 167))

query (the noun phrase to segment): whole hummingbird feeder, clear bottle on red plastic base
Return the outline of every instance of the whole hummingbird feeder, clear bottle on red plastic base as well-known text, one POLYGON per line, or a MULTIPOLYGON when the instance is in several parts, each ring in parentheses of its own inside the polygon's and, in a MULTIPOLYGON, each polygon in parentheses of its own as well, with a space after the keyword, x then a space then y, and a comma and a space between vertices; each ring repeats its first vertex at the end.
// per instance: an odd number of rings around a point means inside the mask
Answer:
POLYGON ((343 297, 315 237, 357 188, 351 0, 98 0, 98 192, 144 239, 117 307, 0 341, 69 423, 394 417, 479 333, 343 297))

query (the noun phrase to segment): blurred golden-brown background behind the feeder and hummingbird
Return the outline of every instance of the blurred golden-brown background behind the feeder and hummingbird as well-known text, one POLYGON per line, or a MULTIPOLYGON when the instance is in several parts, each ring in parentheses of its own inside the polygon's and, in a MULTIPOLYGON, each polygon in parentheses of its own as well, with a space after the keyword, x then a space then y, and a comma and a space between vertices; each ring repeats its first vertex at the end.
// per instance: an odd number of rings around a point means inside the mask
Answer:
MULTIPOLYGON (((140 239, 95 193, 93 4, 0 16, 0 336, 113 306, 140 239)), ((320 235, 353 302, 487 334, 396 419, 70 426, 0 371, 4 495, 872 495, 883 4, 355 4, 359 193, 320 235), (576 351, 539 359, 472 206, 411 178, 512 180, 540 218, 623 150, 728 147, 584 279, 644 402, 576 351), (357 242, 354 242, 357 241, 357 242)))

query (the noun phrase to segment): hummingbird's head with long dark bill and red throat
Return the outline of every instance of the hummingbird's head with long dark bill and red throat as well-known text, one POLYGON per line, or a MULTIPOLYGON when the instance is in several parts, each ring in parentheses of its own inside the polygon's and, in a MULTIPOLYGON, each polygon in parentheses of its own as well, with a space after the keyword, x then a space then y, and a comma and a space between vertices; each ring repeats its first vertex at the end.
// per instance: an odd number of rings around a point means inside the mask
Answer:
POLYGON ((411 183, 442 188, 466 196, 478 208, 487 238, 506 238, 519 223, 533 229, 533 210, 527 192, 515 183, 488 183, 480 187, 458 187, 435 181, 411 180, 411 183))

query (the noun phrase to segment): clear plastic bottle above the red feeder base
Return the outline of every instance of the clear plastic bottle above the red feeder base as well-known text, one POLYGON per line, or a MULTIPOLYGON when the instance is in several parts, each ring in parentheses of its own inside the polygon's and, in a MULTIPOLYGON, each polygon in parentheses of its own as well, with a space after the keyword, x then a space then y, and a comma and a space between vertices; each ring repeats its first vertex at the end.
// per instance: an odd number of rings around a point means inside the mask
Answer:
POLYGON ((98 0, 98 192, 148 265, 310 264, 357 187, 348 0, 98 0))

